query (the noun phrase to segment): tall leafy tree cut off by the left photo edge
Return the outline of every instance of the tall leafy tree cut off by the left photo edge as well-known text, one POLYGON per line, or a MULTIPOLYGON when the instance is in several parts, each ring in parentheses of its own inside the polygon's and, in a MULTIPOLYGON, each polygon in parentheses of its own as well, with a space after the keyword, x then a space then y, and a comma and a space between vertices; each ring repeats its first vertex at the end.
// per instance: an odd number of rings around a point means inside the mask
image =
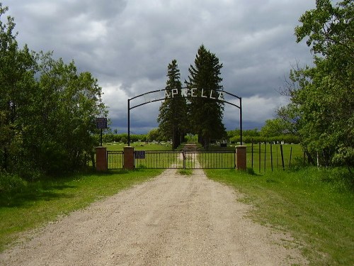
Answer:
POLYGON ((27 46, 18 48, 14 19, 1 21, 6 11, 0 3, 0 168, 12 172, 25 165, 23 128, 32 102, 35 57, 27 46))

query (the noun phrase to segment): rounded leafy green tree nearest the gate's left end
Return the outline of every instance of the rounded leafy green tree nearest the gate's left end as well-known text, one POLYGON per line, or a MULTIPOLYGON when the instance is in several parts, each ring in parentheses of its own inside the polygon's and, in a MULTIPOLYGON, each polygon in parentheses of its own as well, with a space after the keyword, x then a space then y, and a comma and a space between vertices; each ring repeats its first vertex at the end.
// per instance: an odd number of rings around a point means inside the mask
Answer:
POLYGON ((40 98, 33 105, 28 145, 37 140, 35 153, 45 172, 82 167, 97 144, 95 118, 106 116, 101 87, 89 72, 78 73, 74 62, 66 65, 50 53, 41 55, 39 69, 40 98))

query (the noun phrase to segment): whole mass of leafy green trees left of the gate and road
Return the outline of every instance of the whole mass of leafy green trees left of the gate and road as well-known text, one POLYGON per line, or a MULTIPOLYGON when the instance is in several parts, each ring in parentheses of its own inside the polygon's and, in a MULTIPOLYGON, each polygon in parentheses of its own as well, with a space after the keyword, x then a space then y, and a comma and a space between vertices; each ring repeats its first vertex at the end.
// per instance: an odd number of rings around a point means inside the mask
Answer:
POLYGON ((107 114, 101 87, 74 62, 19 48, 7 10, 0 3, 0 174, 78 170, 98 145, 95 118, 107 114))

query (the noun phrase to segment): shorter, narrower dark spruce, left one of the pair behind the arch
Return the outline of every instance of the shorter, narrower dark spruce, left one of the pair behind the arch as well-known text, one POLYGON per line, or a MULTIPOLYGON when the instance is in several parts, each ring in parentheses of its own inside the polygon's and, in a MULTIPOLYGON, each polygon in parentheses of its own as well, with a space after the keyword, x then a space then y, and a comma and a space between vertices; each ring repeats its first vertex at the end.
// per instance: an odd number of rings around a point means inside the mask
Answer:
POLYGON ((178 70, 177 60, 172 60, 168 66, 166 82, 166 95, 170 97, 162 102, 159 108, 159 131, 166 138, 172 139, 172 148, 176 149, 184 138, 187 120, 187 104, 181 96, 181 74, 178 70))

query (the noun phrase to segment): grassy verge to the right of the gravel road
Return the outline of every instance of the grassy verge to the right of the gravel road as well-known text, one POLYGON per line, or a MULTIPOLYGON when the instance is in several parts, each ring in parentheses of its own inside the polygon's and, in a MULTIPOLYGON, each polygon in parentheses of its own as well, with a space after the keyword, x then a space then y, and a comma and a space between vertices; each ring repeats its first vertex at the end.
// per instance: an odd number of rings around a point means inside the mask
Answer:
POLYGON ((289 231, 296 243, 304 243, 302 253, 311 265, 354 265, 354 186, 348 170, 205 172, 241 192, 241 201, 253 206, 254 221, 289 231))

